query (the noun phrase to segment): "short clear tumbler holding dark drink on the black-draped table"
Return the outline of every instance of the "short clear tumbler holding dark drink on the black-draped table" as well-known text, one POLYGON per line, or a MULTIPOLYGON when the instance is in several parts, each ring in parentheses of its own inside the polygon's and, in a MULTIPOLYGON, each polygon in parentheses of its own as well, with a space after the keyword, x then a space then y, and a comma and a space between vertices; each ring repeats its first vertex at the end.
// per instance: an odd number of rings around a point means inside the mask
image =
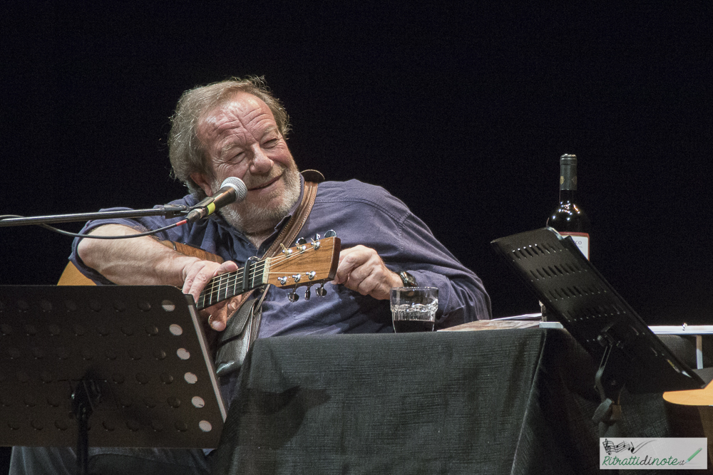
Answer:
POLYGON ((433 331, 437 309, 438 289, 435 287, 391 289, 391 317, 396 333, 433 331))

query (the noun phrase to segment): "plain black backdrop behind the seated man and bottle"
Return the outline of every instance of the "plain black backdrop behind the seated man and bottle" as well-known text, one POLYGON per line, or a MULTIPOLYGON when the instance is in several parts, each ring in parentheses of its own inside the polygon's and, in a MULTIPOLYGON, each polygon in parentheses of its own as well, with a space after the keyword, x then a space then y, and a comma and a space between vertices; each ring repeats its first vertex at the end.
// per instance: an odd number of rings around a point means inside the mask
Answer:
MULTIPOLYGON (((403 199, 496 316, 537 305, 489 242, 545 225, 573 153, 595 266, 648 323, 713 323, 709 1, 59 3, 0 18, 0 214, 182 196, 180 93, 264 75, 299 167, 403 199)), ((71 239, 0 243, 0 283, 50 284, 71 239)))

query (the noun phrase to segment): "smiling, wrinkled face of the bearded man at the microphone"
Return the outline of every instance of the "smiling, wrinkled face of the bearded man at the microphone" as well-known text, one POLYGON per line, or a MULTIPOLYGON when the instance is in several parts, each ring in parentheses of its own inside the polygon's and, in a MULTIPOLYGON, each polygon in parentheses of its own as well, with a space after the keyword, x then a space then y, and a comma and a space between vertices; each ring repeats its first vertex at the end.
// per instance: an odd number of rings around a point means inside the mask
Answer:
POLYGON ((271 229, 299 198, 299 173, 267 104, 237 93, 210 110, 198 124, 211 176, 191 174, 211 196, 227 177, 247 186, 247 198, 222 210, 227 221, 248 234, 271 229))

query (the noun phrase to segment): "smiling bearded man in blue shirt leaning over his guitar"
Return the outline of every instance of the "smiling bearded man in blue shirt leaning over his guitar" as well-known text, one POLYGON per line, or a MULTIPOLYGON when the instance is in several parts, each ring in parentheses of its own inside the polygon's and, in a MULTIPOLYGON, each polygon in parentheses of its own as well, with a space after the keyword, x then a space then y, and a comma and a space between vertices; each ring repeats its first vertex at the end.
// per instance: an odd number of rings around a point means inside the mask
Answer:
MULTIPOLYGON (((304 179, 287 142, 287 113, 260 79, 231 79, 189 90, 172 118, 169 155, 175 176, 191 194, 175 204, 195 205, 227 177, 245 182, 247 197, 208 219, 158 234, 160 240, 198 246, 223 261, 180 254, 150 236, 77 239, 71 260, 96 283, 171 285, 198 300, 211 278, 237 271, 262 256, 294 214, 304 179)), ((90 221, 84 234, 138 234, 177 219, 145 217, 90 221)), ((302 236, 334 229, 342 240, 337 273, 324 298, 291 302, 271 286, 262 302, 259 338, 314 333, 392 332, 389 291, 406 284, 437 287, 436 327, 490 318, 481 280, 439 243, 426 224, 381 187, 356 180, 322 182, 302 236)), ((224 330, 237 299, 207 308, 213 330, 224 330)), ((226 400, 233 380, 223 378, 226 400)), ((200 450, 94 449, 90 463, 111 473, 205 473, 200 450)), ((73 469, 70 449, 15 449, 13 474, 73 469)))

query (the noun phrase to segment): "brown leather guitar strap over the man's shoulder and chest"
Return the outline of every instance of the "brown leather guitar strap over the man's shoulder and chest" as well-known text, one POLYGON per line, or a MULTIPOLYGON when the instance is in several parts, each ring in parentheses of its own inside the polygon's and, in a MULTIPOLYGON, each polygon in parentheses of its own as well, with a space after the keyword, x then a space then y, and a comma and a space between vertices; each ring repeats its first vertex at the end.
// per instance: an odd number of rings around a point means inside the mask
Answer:
MULTIPOLYGON (((282 251, 282 246, 287 248, 292 246, 295 238, 297 238, 297 234, 307 221, 309 212, 312 211, 314 199, 317 198, 317 186, 319 185, 319 182, 324 181, 324 175, 317 172, 317 170, 304 170, 304 172, 302 172, 302 177, 304 177, 304 193, 302 194, 302 202, 299 203, 299 207, 297 207, 297 210, 294 212, 289 221, 287 221, 287 224, 285 224, 284 228, 282 228, 282 231, 280 231, 277 235, 277 238, 275 238, 275 242, 272 243, 270 249, 267 249, 265 255, 262 256, 262 259, 276 256, 280 251, 282 251), (280 244, 282 244, 282 246, 280 246, 280 244)), ((265 289, 262 291, 262 295, 260 298, 257 298, 257 302, 255 303, 255 310, 252 315, 252 325, 250 325, 251 346, 252 342, 254 342, 257 338, 257 333, 260 332, 260 323, 262 322, 262 301, 265 299, 270 285, 271 284, 268 283, 265 286, 265 289)))

